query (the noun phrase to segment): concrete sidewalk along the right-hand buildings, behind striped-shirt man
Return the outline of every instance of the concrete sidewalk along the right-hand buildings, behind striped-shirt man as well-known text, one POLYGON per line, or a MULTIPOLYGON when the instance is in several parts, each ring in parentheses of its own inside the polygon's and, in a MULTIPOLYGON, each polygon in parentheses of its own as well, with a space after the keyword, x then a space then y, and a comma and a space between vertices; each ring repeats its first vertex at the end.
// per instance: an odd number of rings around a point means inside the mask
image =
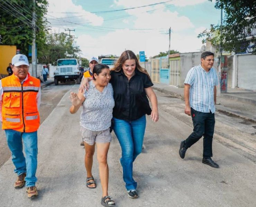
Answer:
MULTIPOLYGON (((184 99, 184 88, 154 82, 154 89, 184 99)), ((256 91, 228 89, 228 93, 217 95, 216 109, 230 116, 238 116, 256 123, 256 91)))

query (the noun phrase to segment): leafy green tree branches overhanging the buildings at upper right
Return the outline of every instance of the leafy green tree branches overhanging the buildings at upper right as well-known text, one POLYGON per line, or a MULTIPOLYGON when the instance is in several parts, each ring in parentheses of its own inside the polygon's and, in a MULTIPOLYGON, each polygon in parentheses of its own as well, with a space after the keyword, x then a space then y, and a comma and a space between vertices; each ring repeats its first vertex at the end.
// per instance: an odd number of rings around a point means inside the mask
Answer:
POLYGON ((201 32, 198 37, 204 38, 203 43, 210 41, 212 45, 219 45, 221 42, 222 50, 236 53, 245 52, 250 47, 256 54, 253 32, 256 29, 256 0, 216 0, 215 8, 224 11, 222 28, 218 24, 201 32))

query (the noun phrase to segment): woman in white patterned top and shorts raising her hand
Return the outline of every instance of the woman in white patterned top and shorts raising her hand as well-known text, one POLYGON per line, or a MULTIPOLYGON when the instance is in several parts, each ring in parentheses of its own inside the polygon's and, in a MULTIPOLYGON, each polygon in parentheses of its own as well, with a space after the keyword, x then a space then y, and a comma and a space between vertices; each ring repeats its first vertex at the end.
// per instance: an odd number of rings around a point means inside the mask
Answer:
POLYGON ((96 187, 92 176, 92 162, 95 143, 97 145, 97 159, 102 186, 101 204, 103 206, 115 205, 115 202, 108 196, 107 155, 112 138, 109 130, 115 105, 113 88, 109 83, 110 78, 109 67, 98 64, 93 68, 93 81, 90 81, 90 89, 85 90, 84 93, 80 91, 77 94, 70 93, 71 114, 74 114, 82 106, 80 126, 85 148, 84 163, 87 171, 86 186, 88 188, 96 187))

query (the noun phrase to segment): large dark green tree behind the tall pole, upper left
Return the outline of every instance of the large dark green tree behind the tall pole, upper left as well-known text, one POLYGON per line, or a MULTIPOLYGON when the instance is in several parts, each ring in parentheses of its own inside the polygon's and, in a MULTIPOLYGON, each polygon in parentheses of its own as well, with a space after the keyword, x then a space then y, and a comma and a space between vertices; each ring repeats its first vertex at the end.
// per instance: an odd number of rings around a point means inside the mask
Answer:
MULTIPOLYGON (((37 56, 44 47, 47 34, 47 0, 36 0, 36 45, 37 56)), ((0 0, 0 44, 16 45, 20 52, 28 55, 32 45, 33 0, 0 0)))

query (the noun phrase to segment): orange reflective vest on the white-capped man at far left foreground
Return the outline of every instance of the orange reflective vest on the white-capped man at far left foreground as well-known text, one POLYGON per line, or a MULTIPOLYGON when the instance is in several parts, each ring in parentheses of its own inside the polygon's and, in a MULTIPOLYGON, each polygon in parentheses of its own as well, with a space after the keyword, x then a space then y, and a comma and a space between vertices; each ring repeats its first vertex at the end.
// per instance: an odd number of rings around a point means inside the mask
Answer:
POLYGON ((20 132, 33 132, 39 127, 39 112, 36 96, 40 80, 31 77, 22 84, 14 74, 1 80, 2 95, 2 129, 20 132))

